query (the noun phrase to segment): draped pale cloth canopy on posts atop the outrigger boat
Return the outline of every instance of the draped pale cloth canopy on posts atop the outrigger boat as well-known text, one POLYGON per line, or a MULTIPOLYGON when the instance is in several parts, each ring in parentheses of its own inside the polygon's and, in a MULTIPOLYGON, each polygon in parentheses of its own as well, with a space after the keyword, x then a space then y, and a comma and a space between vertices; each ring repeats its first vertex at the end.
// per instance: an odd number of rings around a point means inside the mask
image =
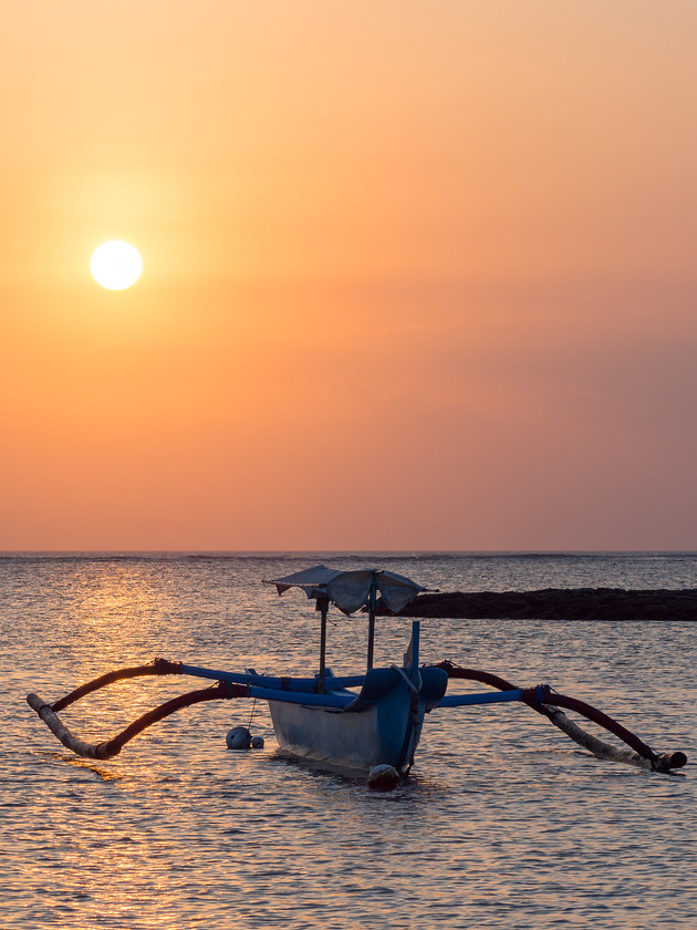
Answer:
POLYGON ((385 607, 393 613, 398 613, 419 591, 425 590, 416 581, 394 571, 383 571, 378 568, 336 571, 323 565, 315 565, 313 568, 305 568, 267 583, 275 585, 279 595, 289 588, 302 588, 309 598, 326 598, 346 614, 365 607, 372 591, 379 592, 385 607))

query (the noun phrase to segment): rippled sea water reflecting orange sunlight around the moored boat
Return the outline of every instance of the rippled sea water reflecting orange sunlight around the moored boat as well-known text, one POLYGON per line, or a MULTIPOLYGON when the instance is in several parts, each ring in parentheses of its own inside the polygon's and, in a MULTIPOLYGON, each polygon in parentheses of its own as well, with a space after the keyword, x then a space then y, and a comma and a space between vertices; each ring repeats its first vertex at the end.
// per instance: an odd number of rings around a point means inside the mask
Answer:
MULTIPOLYGON (((308 601, 260 582, 318 561, 449 591, 697 588, 695 554, 0 556, 2 930, 697 928, 694 624, 422 624, 424 662, 549 682, 686 752, 673 777, 599 762, 523 705, 435 711, 412 778, 381 795, 278 754, 260 704, 191 707, 93 763, 24 702, 156 655, 314 671, 308 601), (229 752, 250 717, 266 748, 229 752)), ((376 662, 408 636, 379 620, 376 662)), ((364 619, 335 614, 333 670, 362 671, 364 647, 364 619)), ((100 741, 197 686, 123 682, 62 719, 100 741)))

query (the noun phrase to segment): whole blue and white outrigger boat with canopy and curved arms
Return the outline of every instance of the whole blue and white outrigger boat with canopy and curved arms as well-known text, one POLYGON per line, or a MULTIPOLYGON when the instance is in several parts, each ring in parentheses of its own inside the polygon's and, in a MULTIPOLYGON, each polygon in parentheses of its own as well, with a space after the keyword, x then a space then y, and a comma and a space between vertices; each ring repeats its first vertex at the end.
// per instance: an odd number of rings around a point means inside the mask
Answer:
MULTIPOLYGON (((278 578, 279 595, 300 588, 315 601, 320 613, 320 665, 310 678, 275 678, 245 672, 225 672, 169 662, 165 659, 101 675, 52 704, 38 694, 27 701, 60 742, 87 758, 105 760, 159 720, 204 701, 251 698, 268 701, 279 747, 294 756, 368 773, 368 784, 388 789, 405 778, 413 764, 424 719, 444 709, 519 701, 547 716, 551 723, 599 758, 628 763, 654 772, 673 774, 687 763, 685 753, 657 753, 617 721, 583 701, 556 693, 548 684, 517 688, 496 674, 464 669, 449 661, 419 664, 419 621, 412 623, 412 639, 400 664, 373 668, 375 613, 378 595, 393 613, 403 610, 420 591, 420 585, 392 571, 366 569, 335 571, 322 565, 278 578), (334 604, 346 614, 365 610, 368 617, 367 669, 356 675, 334 675, 325 665, 326 619, 334 604), (58 714, 85 695, 116 681, 141 675, 190 675, 215 685, 175 698, 134 721, 102 743, 86 743, 63 725, 58 714), (448 694, 450 679, 465 679, 495 689, 485 693, 448 694), (617 736, 625 747, 605 743, 583 731, 561 710, 573 711, 617 736)), ((232 748, 248 747, 246 727, 228 733, 232 748)))

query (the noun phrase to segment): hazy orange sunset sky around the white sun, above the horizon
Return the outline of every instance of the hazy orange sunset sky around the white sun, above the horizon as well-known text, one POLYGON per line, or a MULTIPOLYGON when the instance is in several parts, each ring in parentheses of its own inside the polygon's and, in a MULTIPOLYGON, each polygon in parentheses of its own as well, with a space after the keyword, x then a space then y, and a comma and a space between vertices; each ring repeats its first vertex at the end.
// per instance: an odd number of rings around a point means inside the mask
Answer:
POLYGON ((697 549, 696 48, 693 0, 3 3, 0 548, 697 549))

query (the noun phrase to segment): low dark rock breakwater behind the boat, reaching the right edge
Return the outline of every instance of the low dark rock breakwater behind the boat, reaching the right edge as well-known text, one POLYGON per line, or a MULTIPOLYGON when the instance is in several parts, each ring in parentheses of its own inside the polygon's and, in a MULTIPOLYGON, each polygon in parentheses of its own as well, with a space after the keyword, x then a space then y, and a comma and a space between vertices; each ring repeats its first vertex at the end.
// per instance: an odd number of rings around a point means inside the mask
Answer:
MULTIPOLYGON (((377 613, 389 611, 378 601, 377 613)), ((697 620, 697 589, 547 588, 419 595, 400 617, 490 620, 697 620)))

